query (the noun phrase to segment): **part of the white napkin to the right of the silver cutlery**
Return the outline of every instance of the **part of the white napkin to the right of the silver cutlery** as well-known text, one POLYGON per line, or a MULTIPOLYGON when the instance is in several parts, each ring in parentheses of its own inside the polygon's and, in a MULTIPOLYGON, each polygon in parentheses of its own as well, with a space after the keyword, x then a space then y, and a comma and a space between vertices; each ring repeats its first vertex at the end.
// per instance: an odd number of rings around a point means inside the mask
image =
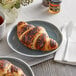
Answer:
POLYGON ((76 64, 76 26, 74 26, 72 35, 69 38, 69 44, 64 60, 76 64))

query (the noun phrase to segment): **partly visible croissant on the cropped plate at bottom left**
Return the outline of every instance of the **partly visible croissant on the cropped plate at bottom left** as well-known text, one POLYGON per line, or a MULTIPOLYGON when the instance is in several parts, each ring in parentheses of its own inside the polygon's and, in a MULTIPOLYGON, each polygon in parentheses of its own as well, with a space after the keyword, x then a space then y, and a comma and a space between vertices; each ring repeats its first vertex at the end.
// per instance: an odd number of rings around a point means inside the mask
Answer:
POLYGON ((0 76, 26 76, 23 71, 7 60, 0 60, 0 76))

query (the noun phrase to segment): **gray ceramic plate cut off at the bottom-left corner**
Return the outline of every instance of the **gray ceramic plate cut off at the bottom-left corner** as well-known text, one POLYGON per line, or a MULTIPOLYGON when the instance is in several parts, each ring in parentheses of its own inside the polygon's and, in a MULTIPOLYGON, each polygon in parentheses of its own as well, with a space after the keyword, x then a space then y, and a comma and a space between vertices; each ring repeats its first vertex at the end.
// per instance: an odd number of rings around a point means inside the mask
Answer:
POLYGON ((34 76, 34 73, 33 73, 32 69, 30 68, 30 66, 26 62, 22 61, 21 59, 18 59, 15 57, 0 57, 0 60, 2 60, 2 59, 8 60, 12 64, 21 68, 23 70, 23 72, 26 74, 26 76, 34 76))

